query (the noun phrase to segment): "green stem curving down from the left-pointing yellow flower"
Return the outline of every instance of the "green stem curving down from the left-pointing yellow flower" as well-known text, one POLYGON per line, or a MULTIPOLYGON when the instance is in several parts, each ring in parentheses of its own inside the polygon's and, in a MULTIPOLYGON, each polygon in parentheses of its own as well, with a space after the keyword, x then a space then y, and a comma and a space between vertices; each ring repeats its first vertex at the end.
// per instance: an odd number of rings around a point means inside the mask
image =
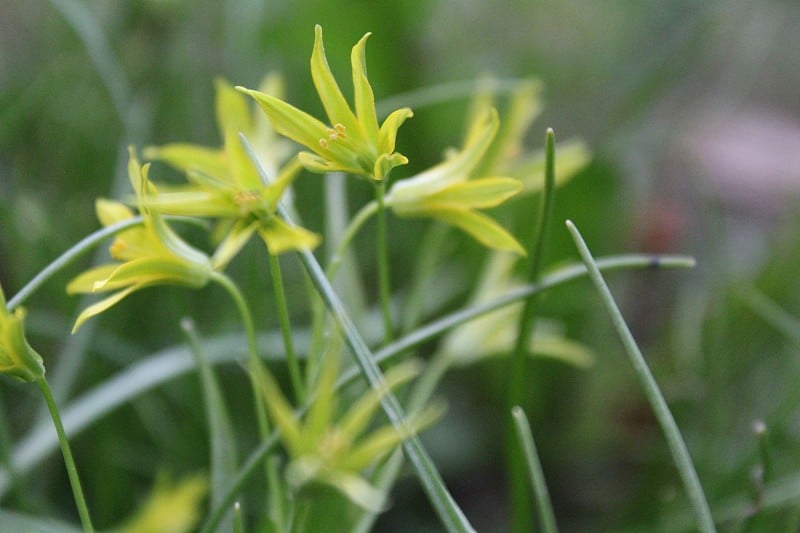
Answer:
MULTIPOLYGON (((258 434, 262 441, 268 441, 270 438, 269 421, 267 419, 266 406, 264 405, 261 388, 259 385, 259 383, 262 382, 261 376, 266 374, 268 370, 258 356, 258 342, 256 340, 256 330, 255 326, 253 325, 253 317, 250 314, 250 308, 247 305, 244 295, 242 295, 241 291, 239 290, 239 287, 233 281, 231 281, 228 276, 221 272, 214 272, 211 276, 211 279, 220 284, 228 292, 231 298, 233 298, 242 318, 245 334, 247 336, 247 348, 249 354, 248 374, 250 376, 250 386, 253 389, 256 420, 258 422, 258 434)), ((270 510, 272 511, 272 516, 278 520, 278 523, 283 523, 284 512, 281 504, 283 501, 283 490, 279 481, 278 466, 274 460, 267 459, 265 471, 267 487, 269 488, 270 494, 270 510)))

